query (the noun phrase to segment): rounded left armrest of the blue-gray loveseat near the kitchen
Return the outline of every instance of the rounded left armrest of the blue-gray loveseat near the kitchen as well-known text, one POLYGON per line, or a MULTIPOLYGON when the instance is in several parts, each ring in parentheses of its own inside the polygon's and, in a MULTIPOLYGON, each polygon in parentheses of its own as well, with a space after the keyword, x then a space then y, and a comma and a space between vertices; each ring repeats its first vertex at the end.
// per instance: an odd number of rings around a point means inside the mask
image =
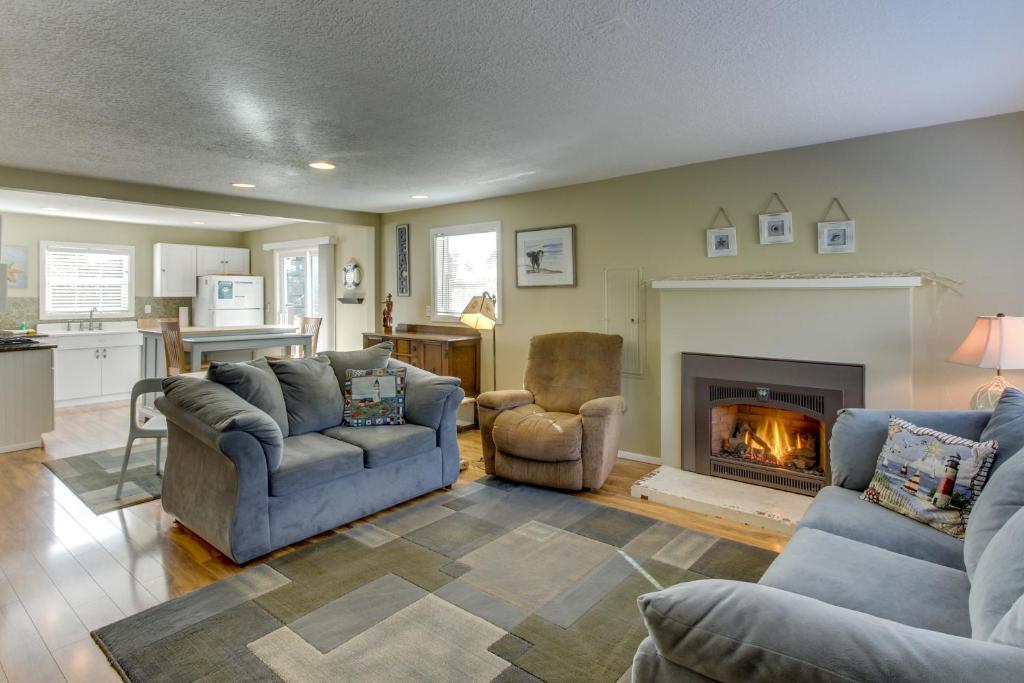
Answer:
POLYGON ((197 437, 211 447, 220 449, 218 435, 242 431, 255 438, 266 458, 266 469, 281 467, 284 435, 269 415, 244 400, 227 387, 195 377, 168 377, 164 380, 164 395, 157 399, 157 410, 171 422, 182 422, 187 415, 208 429, 197 437))

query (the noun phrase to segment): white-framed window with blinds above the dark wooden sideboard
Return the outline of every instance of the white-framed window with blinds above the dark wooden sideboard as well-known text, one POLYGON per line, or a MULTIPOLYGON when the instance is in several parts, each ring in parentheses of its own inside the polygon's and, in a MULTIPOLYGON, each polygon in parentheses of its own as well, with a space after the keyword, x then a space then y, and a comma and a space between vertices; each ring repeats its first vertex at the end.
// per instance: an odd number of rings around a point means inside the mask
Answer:
POLYGON ((458 319, 469 300, 494 294, 501 318, 501 223, 435 227, 430 230, 432 310, 435 319, 458 319))

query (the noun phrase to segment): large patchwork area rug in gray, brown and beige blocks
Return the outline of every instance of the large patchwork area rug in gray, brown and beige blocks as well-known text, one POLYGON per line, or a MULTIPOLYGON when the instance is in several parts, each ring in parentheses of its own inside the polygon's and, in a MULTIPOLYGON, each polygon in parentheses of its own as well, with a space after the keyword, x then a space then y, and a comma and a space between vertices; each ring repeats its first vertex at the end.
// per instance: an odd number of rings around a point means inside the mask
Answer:
POLYGON ((637 596, 774 557, 484 477, 92 635, 128 681, 628 681, 637 596))

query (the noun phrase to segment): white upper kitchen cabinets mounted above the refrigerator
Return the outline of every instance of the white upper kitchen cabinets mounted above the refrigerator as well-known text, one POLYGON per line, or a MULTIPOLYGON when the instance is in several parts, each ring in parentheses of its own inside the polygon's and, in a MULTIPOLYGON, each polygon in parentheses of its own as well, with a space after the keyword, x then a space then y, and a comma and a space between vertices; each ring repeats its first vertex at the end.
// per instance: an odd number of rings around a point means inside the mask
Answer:
POLYGON ((157 244, 153 265, 153 296, 194 297, 200 275, 248 274, 249 250, 157 244))

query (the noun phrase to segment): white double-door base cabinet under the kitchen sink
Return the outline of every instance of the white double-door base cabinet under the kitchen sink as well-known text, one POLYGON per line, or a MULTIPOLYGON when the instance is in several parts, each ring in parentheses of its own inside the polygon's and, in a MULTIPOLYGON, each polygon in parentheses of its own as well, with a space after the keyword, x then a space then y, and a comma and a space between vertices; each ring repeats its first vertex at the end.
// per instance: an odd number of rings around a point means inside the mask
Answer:
POLYGON ((127 398, 142 377, 138 332, 53 334, 54 399, 60 405, 127 398))

